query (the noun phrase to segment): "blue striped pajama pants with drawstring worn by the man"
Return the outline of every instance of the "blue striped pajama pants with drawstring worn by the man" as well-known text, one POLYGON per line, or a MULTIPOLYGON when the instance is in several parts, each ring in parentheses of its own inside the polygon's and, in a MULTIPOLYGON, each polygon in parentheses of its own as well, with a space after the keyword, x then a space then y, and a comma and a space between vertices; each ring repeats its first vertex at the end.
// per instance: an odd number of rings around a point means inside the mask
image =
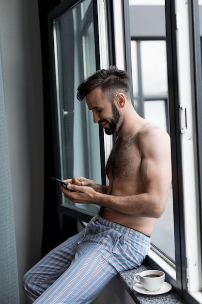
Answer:
POLYGON ((91 303, 113 276, 139 267, 149 249, 149 236, 95 216, 24 275, 26 297, 34 304, 91 303))

